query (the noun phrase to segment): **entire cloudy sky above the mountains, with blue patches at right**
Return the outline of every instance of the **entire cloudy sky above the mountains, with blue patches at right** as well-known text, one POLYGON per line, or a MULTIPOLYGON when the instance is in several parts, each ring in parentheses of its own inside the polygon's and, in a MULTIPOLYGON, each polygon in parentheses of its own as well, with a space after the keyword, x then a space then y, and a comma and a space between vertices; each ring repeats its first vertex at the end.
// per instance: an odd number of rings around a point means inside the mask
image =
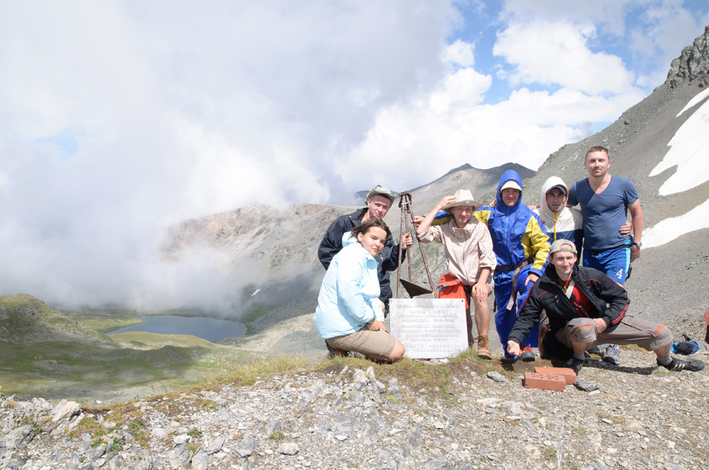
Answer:
POLYGON ((0 293, 218 299, 218 254, 164 263, 166 227, 537 168, 708 24, 681 0, 2 2, 0 293))

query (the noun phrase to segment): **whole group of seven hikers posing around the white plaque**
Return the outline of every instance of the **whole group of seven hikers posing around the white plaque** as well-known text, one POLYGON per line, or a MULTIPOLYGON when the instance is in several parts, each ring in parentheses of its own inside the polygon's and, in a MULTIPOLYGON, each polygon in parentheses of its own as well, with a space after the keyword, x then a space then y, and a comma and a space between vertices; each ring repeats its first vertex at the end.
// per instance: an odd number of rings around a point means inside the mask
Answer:
MULTIPOLYGON (((623 286, 642 248, 640 200, 629 179, 608 173, 605 147, 588 149, 584 166, 588 178, 571 186, 549 178, 538 206, 522 203, 522 178, 508 170, 490 205, 460 189, 416 217, 420 242, 445 248, 448 273, 439 296, 465 298, 468 345, 484 359, 492 358, 487 299, 493 290, 505 360, 534 361, 538 348, 542 357, 565 361, 578 374, 588 352, 618 365, 618 345, 635 344, 654 351, 666 369, 703 369, 699 360, 671 356, 669 328, 627 315, 623 286)), ((331 355, 352 351, 387 362, 404 355, 384 325, 392 297, 389 271, 398 268, 399 247, 403 260, 413 244, 410 233, 395 244, 382 220, 395 199, 386 188, 372 188, 367 207, 335 220, 320 243, 327 273, 315 324, 331 355)))

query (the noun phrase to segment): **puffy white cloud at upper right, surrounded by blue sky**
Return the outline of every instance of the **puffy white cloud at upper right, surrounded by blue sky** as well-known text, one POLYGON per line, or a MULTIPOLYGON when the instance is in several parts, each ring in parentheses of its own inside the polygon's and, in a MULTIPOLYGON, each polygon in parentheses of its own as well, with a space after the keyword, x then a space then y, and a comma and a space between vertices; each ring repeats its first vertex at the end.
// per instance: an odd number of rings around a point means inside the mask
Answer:
POLYGON ((591 52, 592 29, 571 23, 512 23, 498 34, 493 52, 513 64, 513 84, 559 85, 588 94, 632 91, 635 80, 620 57, 591 52))

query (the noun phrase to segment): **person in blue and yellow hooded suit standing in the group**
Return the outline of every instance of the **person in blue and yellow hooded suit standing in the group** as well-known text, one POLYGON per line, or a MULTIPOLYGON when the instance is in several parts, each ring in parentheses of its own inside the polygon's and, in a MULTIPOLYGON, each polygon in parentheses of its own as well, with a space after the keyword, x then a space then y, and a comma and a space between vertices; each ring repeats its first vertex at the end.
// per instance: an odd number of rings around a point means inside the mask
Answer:
POLYGON ((495 270, 495 326, 505 357, 533 361, 539 326, 523 342, 521 354, 509 354, 508 336, 517 319, 518 305, 524 302, 532 283, 547 265, 549 236, 537 214, 522 204, 522 178, 513 170, 503 173, 497 189, 495 207, 481 207, 473 213, 487 224, 497 258, 495 270), (519 293, 519 298, 518 298, 519 293))

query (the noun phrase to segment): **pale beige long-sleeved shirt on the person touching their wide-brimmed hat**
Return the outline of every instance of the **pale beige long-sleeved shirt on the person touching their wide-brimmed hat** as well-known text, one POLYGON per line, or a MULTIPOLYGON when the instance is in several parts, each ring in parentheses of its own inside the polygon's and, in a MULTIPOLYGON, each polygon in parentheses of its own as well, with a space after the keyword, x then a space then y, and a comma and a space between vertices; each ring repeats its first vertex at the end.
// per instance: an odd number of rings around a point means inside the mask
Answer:
POLYGON ((432 225, 420 239, 423 243, 443 243, 448 273, 457 277, 464 285, 474 285, 478 282, 482 268, 490 268, 494 272, 497 266, 490 232, 487 226, 478 222, 475 217, 470 217, 468 224, 462 229, 457 227, 454 220, 444 225, 432 225))

